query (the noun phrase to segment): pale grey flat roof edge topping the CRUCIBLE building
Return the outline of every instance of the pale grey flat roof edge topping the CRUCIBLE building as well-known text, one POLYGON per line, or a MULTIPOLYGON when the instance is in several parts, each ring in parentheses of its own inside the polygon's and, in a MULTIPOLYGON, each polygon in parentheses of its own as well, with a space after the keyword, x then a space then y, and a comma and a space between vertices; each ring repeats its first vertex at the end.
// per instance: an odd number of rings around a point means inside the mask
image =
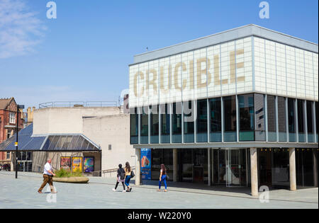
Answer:
POLYGON ((241 26, 239 28, 233 28, 231 30, 226 30, 221 33, 208 35, 206 37, 198 38, 196 40, 181 42, 177 45, 172 45, 169 47, 164 47, 162 49, 135 55, 134 63, 130 64, 130 66, 154 59, 159 59, 162 57, 168 57, 170 55, 177 55, 181 52, 188 52, 191 50, 201 49, 203 47, 208 47, 211 45, 217 45, 222 42, 246 38, 249 36, 257 36, 260 38, 272 40, 274 42, 280 42, 285 45, 290 45, 291 47, 297 47, 303 50, 318 53, 318 44, 314 42, 302 40, 300 38, 296 38, 284 33, 279 33, 274 30, 269 30, 259 25, 250 24, 241 26))

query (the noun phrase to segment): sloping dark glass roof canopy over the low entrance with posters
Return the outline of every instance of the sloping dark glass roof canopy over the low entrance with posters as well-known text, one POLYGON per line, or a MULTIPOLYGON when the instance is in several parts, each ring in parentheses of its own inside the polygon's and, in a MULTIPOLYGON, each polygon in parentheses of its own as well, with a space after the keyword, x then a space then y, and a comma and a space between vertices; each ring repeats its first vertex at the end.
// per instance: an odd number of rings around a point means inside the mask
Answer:
MULTIPOLYGON (((46 135, 32 137, 33 124, 18 133, 21 151, 100 151, 99 146, 84 135, 46 135)), ((16 135, 0 144, 0 151, 16 151, 16 135)))

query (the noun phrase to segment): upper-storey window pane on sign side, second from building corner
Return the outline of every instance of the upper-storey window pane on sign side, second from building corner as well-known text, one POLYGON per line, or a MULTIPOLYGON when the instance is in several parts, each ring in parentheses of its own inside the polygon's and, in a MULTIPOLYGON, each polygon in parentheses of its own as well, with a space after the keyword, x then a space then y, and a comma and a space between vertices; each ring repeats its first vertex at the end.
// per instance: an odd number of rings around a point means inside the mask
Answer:
POLYGON ((228 96, 223 98, 224 102, 224 141, 237 141, 237 127, 236 127, 236 96, 228 96))

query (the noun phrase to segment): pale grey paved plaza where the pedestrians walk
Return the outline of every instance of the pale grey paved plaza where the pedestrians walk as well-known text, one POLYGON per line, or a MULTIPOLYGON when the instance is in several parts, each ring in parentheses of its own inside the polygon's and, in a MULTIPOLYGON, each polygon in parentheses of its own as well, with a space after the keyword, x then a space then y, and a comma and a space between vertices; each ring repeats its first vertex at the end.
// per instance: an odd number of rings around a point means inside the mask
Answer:
MULTIPOLYGON (((214 188, 191 183, 169 182, 168 192, 157 192, 157 182, 133 185, 131 193, 113 192, 113 178, 90 178, 87 184, 54 183, 55 198, 38 194, 40 173, 0 171, 0 208, 125 208, 125 209, 220 209, 220 208, 311 208, 318 209, 318 188, 292 192, 272 190, 269 202, 250 196, 250 188, 214 188), (48 202, 47 200, 51 201, 48 202), (52 202, 53 201, 53 202, 52 202), (56 202, 55 202, 56 201, 56 202)), ((132 182, 134 183, 134 181, 132 182)))

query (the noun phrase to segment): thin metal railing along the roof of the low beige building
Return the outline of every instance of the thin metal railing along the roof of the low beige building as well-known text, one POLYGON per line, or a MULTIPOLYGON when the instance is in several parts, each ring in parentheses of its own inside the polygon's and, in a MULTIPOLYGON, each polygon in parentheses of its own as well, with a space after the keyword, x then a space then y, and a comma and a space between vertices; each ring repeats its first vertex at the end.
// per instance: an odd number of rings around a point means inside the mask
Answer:
POLYGON ((117 107, 116 101, 50 101, 40 103, 40 108, 72 108, 72 107, 117 107))

